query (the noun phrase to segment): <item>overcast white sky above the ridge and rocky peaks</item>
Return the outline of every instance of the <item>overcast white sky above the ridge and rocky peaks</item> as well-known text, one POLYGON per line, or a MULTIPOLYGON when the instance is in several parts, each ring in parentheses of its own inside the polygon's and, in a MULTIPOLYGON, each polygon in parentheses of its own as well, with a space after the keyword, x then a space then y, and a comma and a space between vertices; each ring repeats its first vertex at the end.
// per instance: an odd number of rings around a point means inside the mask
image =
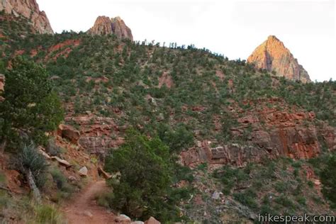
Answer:
POLYGON ((52 28, 86 31, 97 16, 121 16, 135 40, 194 43, 247 59, 276 35, 312 80, 336 79, 334 0, 38 0, 52 28))

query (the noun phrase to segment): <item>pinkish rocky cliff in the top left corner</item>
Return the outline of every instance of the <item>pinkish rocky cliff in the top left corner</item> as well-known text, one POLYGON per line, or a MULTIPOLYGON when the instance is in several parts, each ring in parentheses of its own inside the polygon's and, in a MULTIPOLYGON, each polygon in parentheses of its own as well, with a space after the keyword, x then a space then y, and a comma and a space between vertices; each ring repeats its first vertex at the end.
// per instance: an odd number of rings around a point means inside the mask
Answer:
POLYGON ((38 33, 54 33, 47 15, 40 11, 35 0, 1 0, 0 11, 27 18, 38 33))

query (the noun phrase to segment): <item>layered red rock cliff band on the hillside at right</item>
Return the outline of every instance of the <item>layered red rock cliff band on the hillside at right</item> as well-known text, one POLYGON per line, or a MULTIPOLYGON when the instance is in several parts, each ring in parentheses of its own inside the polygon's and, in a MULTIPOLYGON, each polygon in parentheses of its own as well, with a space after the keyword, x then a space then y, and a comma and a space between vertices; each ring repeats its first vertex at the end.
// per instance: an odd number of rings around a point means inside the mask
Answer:
POLYGON ((322 150, 323 142, 327 150, 336 150, 336 128, 325 123, 317 127, 313 122, 313 112, 286 108, 281 99, 254 103, 259 104, 259 108, 244 113, 244 116, 237 118, 237 127, 231 128, 233 135, 244 135, 250 128, 246 145, 218 145, 204 140, 198 142, 196 147, 181 152, 181 162, 190 167, 202 162, 244 167, 248 162, 263 162, 277 157, 316 157, 322 150), (279 108, 269 108, 267 104, 279 108), (319 141, 318 135, 323 138, 323 142, 319 141))

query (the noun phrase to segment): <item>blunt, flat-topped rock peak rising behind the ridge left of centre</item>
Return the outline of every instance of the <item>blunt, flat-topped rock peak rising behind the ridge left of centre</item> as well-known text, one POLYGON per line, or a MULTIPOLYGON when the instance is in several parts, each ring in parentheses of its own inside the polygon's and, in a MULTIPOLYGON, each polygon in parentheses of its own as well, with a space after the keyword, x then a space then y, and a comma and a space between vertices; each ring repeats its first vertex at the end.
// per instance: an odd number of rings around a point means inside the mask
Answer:
POLYGON ((133 41, 132 31, 120 17, 108 18, 107 16, 99 16, 94 26, 88 30, 88 33, 94 35, 114 34, 120 39, 125 38, 133 41))

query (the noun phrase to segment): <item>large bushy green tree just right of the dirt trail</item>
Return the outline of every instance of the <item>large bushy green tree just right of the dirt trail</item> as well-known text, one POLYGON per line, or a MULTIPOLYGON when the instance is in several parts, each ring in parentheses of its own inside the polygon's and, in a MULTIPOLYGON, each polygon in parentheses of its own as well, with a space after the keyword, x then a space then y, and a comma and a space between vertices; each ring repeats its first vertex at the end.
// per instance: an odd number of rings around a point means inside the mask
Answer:
POLYGON ((125 144, 106 158, 105 169, 121 173, 119 181, 110 181, 111 207, 135 218, 177 220, 177 200, 169 196, 172 167, 169 148, 161 140, 128 130, 125 144))

